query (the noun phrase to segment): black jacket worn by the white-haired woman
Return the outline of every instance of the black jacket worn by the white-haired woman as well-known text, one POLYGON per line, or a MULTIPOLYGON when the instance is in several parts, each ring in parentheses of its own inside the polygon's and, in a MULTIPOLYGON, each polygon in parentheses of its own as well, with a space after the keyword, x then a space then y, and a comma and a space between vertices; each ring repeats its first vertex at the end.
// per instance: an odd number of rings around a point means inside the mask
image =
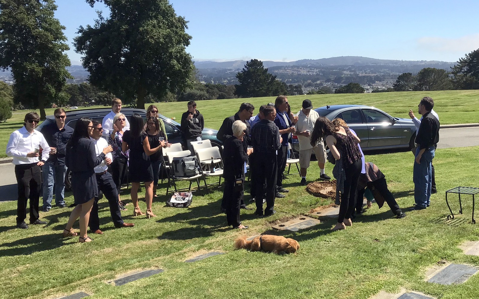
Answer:
POLYGON ((242 178, 244 162, 248 158, 243 143, 235 136, 230 136, 223 145, 223 177, 225 179, 242 178))

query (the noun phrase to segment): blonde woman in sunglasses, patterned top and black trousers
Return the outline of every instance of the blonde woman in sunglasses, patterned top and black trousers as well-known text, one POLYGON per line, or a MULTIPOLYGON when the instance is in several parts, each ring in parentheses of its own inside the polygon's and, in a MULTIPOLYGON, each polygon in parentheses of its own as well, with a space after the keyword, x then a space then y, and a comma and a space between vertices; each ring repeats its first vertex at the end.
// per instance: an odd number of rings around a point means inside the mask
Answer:
POLYGON ((125 210, 125 203, 120 200, 120 189, 121 184, 126 177, 129 154, 129 151, 123 152, 121 148, 125 126, 125 114, 118 113, 113 118, 113 129, 108 132, 108 143, 113 147, 112 176, 116 185, 116 191, 118 191, 118 201, 120 202, 120 208, 122 210, 125 210))

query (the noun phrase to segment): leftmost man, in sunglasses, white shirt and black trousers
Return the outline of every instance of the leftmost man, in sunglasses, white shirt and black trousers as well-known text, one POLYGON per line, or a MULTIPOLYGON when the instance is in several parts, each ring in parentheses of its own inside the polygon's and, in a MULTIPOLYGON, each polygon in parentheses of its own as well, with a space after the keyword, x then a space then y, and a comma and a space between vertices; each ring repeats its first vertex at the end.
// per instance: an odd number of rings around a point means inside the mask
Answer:
POLYGON ((10 134, 7 155, 13 157, 15 177, 18 184, 17 227, 26 229, 27 200, 30 199, 30 224, 46 224, 40 221, 38 202, 40 199, 40 167, 50 155, 50 147, 42 133, 35 130, 40 117, 36 112, 25 115, 23 127, 10 134), (40 148, 43 149, 40 157, 40 148), (41 160, 40 160, 41 158, 41 160))

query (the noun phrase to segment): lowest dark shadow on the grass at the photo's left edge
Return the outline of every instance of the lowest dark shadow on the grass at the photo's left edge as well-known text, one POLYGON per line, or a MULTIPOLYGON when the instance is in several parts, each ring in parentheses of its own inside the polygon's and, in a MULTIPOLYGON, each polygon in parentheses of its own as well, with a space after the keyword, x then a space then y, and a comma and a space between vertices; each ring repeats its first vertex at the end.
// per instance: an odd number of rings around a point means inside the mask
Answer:
POLYGON ((61 238, 59 233, 28 237, 0 245, 0 248, 2 248, 0 249, 0 256, 30 255, 34 252, 60 247, 63 245, 63 241, 64 239, 61 238))

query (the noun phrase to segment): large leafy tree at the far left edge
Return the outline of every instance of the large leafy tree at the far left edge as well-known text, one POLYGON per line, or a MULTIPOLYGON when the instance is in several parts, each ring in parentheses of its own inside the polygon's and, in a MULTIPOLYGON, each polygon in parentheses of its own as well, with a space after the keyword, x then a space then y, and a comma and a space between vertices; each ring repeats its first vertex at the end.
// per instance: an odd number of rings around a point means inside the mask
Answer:
POLYGON ((45 107, 72 78, 65 27, 54 17, 54 0, 0 0, 0 68, 11 68, 15 102, 45 107))

